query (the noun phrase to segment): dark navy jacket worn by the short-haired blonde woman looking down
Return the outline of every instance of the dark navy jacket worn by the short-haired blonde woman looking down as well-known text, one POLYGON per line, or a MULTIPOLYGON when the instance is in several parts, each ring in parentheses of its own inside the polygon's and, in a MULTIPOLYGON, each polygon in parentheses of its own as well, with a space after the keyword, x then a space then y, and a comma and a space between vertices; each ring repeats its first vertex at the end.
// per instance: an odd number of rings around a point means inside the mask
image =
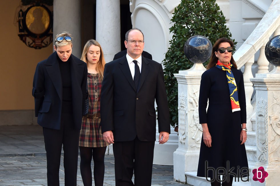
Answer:
MULTIPOLYGON (((35 99, 35 116, 40 126, 60 129, 62 108, 62 79, 58 56, 53 52, 46 60, 37 64, 32 95, 35 99)), ((82 111, 87 98, 87 64, 71 56, 70 62, 73 118, 76 129, 81 128, 82 111)))

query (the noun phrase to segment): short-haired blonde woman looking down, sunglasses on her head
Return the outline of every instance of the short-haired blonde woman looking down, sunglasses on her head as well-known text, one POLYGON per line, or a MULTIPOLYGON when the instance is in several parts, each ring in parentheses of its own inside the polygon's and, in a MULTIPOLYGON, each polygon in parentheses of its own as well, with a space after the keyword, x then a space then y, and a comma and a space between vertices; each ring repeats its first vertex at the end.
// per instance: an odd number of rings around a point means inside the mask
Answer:
POLYGON ((87 64, 72 53, 72 36, 57 34, 53 52, 37 64, 32 95, 43 127, 48 185, 59 186, 63 145, 65 185, 77 185, 79 134, 87 98, 87 64))

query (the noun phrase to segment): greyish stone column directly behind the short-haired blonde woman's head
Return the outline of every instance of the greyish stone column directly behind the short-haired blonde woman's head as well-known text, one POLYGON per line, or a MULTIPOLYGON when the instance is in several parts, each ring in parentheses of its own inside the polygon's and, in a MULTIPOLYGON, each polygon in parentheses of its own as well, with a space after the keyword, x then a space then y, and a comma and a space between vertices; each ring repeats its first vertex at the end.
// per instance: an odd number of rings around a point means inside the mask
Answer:
POLYGON ((72 54, 81 58, 81 3, 76 0, 53 1, 53 38, 68 31, 73 36, 72 54))

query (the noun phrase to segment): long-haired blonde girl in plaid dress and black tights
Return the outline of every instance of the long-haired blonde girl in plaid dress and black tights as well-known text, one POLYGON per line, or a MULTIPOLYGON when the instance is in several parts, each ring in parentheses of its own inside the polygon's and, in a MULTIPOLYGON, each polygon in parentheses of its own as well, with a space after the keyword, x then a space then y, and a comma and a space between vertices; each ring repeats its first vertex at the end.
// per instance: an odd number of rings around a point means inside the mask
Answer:
POLYGON ((80 170, 83 184, 91 186, 91 159, 93 158, 94 183, 96 186, 102 186, 105 171, 104 156, 108 143, 103 140, 101 127, 99 126, 100 92, 105 66, 105 59, 100 44, 93 39, 87 41, 81 60, 87 63, 89 111, 87 115, 83 116, 80 131, 80 170))

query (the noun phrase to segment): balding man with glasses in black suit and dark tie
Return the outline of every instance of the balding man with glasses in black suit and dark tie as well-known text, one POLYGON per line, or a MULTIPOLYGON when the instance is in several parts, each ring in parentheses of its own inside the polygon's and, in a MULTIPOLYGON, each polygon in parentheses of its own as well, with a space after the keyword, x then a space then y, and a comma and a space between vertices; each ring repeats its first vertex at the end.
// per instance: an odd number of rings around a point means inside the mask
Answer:
POLYGON ((158 108, 159 143, 170 134, 169 108, 160 63, 141 56, 144 35, 125 35, 127 54, 105 64, 101 90, 103 139, 113 143, 116 186, 151 185, 158 108))

